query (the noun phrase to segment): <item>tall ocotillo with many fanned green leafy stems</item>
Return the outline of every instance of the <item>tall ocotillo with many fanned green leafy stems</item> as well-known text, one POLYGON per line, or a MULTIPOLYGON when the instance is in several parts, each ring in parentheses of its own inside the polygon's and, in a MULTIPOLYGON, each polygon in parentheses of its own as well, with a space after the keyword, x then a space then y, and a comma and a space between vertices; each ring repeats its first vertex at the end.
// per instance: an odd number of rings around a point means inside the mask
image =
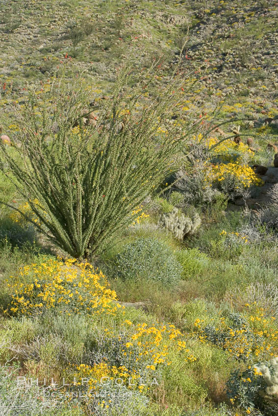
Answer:
POLYGON ((186 137, 167 118, 176 111, 173 90, 182 81, 174 78, 147 98, 154 70, 120 71, 112 99, 87 126, 84 107, 92 96, 82 78, 69 86, 57 77, 49 92, 30 92, 25 108, 15 109, 19 133, 11 139, 20 162, 2 145, 2 169, 9 179, 13 173, 39 219, 35 226, 76 258, 100 253, 132 223, 132 210, 169 174, 186 137), (159 126, 167 134, 158 133, 159 126))

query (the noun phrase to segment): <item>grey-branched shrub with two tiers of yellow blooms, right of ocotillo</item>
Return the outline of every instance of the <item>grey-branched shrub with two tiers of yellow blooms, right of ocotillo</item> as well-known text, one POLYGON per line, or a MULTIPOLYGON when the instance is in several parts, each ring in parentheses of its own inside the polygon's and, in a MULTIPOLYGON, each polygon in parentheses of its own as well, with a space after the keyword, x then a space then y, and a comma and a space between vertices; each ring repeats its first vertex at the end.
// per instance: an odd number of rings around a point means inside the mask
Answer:
POLYGON ((177 187, 197 204, 212 203, 221 191, 230 199, 241 196, 253 185, 262 185, 248 162, 253 153, 243 143, 229 139, 194 137, 190 168, 177 173, 177 187), (190 192, 192 194, 190 195, 190 192))

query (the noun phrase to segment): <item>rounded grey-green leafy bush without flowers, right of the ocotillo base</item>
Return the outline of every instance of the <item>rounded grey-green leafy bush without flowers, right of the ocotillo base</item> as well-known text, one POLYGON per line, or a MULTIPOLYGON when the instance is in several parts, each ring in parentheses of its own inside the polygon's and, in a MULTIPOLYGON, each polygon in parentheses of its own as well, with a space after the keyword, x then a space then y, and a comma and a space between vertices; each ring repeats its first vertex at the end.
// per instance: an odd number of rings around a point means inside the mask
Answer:
POLYGON ((175 284, 182 268, 169 247, 152 238, 139 238, 127 244, 116 256, 115 270, 122 279, 152 279, 165 284, 175 284))

